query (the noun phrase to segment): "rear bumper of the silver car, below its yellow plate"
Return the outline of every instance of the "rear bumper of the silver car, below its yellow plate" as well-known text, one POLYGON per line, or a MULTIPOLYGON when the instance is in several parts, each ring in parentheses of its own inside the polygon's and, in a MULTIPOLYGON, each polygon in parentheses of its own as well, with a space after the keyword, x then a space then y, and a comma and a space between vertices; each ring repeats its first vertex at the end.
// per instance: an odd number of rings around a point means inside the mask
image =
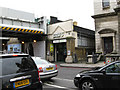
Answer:
POLYGON ((47 79, 47 78, 52 78, 58 75, 58 70, 52 71, 52 72, 47 72, 47 73, 40 73, 40 78, 41 79, 47 79))

